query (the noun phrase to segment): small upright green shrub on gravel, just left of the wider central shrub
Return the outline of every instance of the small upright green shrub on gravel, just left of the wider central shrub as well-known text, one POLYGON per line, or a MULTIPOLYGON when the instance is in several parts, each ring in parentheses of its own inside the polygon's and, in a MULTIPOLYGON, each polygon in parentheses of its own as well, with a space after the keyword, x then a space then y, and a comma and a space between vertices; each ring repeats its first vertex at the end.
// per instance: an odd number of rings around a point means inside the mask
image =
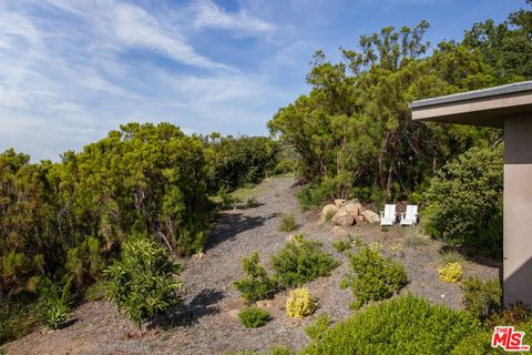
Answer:
POLYGON ((253 253, 249 257, 242 260, 242 267, 247 274, 234 283, 236 290, 242 293, 244 300, 254 303, 259 300, 272 298, 277 292, 277 282, 269 277, 264 266, 260 264, 258 253, 253 253))

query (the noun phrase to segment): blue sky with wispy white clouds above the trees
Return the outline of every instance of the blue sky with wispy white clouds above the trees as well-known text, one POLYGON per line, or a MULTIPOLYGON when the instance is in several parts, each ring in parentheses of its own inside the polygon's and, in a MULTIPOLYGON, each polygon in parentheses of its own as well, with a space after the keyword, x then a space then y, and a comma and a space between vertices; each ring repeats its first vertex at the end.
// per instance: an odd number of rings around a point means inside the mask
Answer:
POLYGON ((427 39, 460 39, 521 0, 0 0, 0 151, 33 160, 79 151, 120 124, 267 134, 308 92, 323 49, 427 19, 427 39))

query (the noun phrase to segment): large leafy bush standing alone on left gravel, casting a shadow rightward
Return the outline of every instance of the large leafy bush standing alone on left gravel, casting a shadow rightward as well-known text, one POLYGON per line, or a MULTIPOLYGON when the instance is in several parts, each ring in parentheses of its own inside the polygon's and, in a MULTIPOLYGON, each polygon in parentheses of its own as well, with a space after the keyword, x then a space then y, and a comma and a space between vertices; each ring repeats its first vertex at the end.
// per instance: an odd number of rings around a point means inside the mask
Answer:
POLYGON ((181 265, 161 244, 134 237, 123 244, 122 258, 105 270, 108 297, 124 311, 142 335, 142 325, 180 301, 181 265))

